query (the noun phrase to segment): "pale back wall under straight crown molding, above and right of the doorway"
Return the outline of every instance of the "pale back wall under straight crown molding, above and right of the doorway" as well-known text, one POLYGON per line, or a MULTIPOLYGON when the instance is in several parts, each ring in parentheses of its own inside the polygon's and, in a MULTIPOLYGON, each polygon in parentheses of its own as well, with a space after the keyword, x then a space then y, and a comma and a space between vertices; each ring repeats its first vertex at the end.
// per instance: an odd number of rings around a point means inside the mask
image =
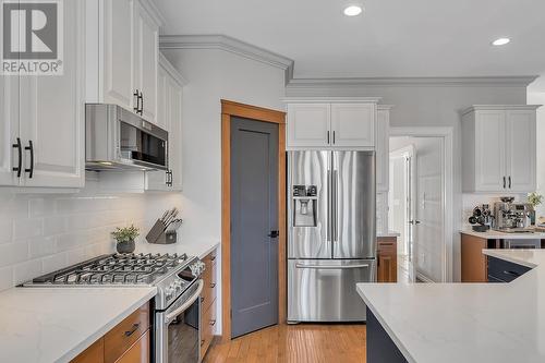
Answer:
MULTIPOLYGON (((462 215, 461 125, 459 111, 471 105, 526 104, 522 86, 480 85, 377 85, 377 86, 305 86, 287 87, 294 96, 362 96, 383 97, 382 104, 393 105, 391 126, 453 126, 455 216, 462 215)), ((458 218, 457 218, 458 219, 458 218)), ((460 280, 460 220, 453 222, 453 279, 460 280)))

